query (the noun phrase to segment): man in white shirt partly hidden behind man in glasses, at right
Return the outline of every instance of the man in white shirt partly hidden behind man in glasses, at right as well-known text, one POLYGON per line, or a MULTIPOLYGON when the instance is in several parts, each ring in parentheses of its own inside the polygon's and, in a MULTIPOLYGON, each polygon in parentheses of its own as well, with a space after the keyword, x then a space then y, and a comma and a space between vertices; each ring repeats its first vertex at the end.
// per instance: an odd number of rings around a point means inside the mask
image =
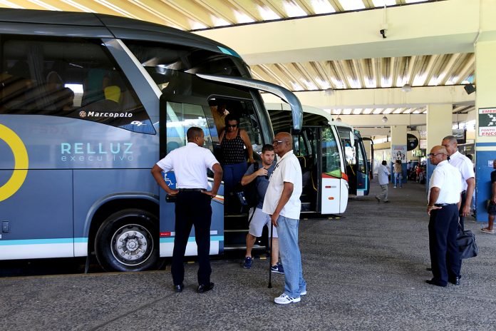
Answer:
POLYGON ((472 196, 475 189, 475 173, 474 165, 470 158, 467 158, 458 151, 458 145, 454 136, 446 136, 441 143, 446 151, 448 151, 448 161, 450 165, 460 170, 462 174, 462 202, 460 204, 460 230, 464 230, 465 216, 470 215, 470 205, 472 204, 472 196))

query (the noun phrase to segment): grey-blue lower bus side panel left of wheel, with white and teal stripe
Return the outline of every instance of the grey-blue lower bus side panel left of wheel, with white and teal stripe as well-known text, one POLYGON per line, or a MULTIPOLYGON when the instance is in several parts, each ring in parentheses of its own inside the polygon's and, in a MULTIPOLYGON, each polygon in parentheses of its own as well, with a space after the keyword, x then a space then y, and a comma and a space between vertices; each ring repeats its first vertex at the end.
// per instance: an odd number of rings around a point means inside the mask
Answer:
MULTIPOLYGON (((0 170, 0 186, 12 170, 0 170)), ((0 201, 9 233, 0 237, 3 260, 74 256, 71 170, 30 169, 19 190, 0 201)))

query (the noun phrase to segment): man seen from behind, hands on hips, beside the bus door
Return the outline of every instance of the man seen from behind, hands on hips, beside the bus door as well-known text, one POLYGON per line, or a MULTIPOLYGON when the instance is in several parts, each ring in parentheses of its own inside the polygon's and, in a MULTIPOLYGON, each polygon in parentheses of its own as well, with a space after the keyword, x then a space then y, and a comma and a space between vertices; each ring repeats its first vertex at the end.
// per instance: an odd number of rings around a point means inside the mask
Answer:
POLYGON ((177 148, 153 166, 152 175, 158 185, 169 195, 177 195, 175 203, 175 238, 172 252, 172 280, 175 292, 182 292, 185 277, 184 258, 192 225, 198 255, 198 288, 203 293, 214 288, 210 282, 210 224, 212 223, 211 200, 217 195, 222 180, 222 167, 210 150, 203 148, 205 136, 201 128, 191 127, 187 133, 187 145, 177 148), (214 172, 212 190, 208 188, 207 169, 214 172), (165 183, 162 170, 173 170, 177 190, 165 183))

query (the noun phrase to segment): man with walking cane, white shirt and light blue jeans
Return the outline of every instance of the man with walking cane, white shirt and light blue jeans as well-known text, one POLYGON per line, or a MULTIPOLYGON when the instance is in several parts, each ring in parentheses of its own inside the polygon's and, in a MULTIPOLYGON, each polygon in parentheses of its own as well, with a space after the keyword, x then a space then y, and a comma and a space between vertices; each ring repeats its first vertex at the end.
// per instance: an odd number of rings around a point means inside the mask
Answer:
POLYGON ((279 255, 284 265, 284 293, 274 298, 274 302, 286 305, 299 302, 300 296, 306 295, 306 281, 301 270, 301 253, 298 246, 301 166, 293 154, 293 142, 289 133, 277 133, 272 146, 279 156, 279 161, 269 179, 262 211, 270 215, 272 224, 277 227, 279 255))

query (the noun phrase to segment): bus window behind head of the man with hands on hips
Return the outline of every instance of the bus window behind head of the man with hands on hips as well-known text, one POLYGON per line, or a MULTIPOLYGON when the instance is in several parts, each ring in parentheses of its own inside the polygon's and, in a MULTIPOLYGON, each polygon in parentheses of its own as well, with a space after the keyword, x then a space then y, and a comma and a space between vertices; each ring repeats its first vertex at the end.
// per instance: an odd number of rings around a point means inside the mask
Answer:
POLYGON ((167 153, 187 143, 186 131, 192 126, 202 128, 205 147, 213 151, 212 138, 202 106, 167 102, 167 153))

